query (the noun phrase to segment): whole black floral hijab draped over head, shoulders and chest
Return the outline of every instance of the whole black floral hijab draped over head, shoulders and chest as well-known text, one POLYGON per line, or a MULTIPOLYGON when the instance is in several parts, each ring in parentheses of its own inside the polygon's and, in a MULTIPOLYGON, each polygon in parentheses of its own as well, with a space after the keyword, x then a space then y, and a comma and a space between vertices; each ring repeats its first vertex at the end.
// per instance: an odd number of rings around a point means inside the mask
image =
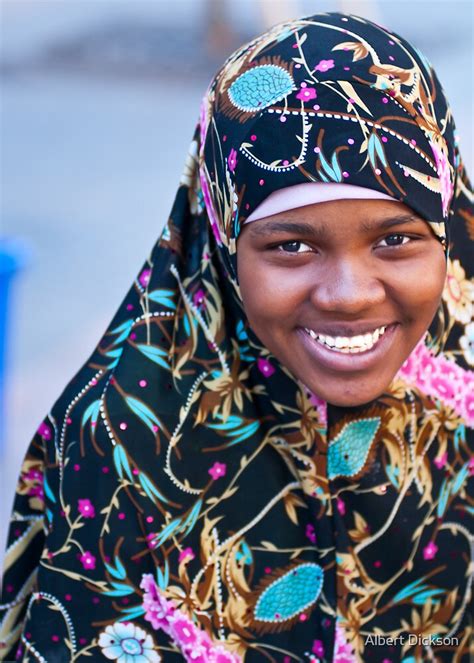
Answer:
POLYGON ((473 238, 451 111, 416 49, 334 13, 234 53, 161 237, 26 454, 0 658, 467 657, 473 238), (240 298, 242 223, 307 181, 387 193, 446 249, 429 332, 356 408, 298 384, 240 298))

